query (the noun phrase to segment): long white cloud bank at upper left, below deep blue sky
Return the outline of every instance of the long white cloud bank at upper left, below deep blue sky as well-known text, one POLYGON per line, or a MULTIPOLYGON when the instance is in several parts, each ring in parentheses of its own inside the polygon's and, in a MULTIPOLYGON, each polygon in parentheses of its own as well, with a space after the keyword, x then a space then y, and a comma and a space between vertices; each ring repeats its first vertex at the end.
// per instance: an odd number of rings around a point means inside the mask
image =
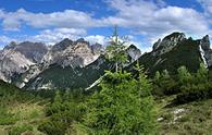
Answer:
POLYGON ((91 14, 75 10, 52 13, 33 13, 24 9, 18 9, 16 12, 1 10, 0 17, 3 20, 2 26, 7 30, 18 29, 23 23, 36 28, 85 28, 99 25, 99 22, 92 19, 91 14))

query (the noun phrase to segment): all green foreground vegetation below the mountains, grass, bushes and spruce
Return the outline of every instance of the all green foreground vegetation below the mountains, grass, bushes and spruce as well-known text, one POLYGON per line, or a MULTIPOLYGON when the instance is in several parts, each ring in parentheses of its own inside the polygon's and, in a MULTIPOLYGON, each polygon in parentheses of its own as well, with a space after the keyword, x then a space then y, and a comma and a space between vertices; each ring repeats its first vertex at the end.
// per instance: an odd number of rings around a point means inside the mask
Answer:
POLYGON ((137 77, 122 70, 109 71, 93 93, 29 94, 0 82, 0 134, 210 135, 212 78, 202 63, 199 68, 190 73, 179 66, 175 75, 163 70, 151 81, 139 68, 137 77))

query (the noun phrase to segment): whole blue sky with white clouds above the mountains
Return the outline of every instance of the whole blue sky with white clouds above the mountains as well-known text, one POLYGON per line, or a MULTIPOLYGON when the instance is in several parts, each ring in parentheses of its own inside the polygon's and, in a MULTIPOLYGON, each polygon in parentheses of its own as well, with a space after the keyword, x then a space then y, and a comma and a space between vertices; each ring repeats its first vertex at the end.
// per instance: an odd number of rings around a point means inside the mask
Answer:
POLYGON ((212 35, 212 0, 0 0, 0 48, 12 40, 105 44, 113 26, 142 51, 172 32, 212 35))

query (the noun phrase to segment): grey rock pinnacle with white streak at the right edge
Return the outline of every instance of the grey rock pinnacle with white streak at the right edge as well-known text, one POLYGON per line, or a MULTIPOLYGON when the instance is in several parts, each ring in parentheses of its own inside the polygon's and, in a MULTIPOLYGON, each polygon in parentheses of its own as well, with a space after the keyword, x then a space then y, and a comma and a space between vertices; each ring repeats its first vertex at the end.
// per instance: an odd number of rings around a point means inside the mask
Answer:
POLYGON ((210 39, 209 39, 209 35, 204 36, 201 40, 200 40, 200 53, 201 53, 201 58, 204 61, 204 64, 207 64, 207 66, 212 66, 212 49, 210 48, 210 39))

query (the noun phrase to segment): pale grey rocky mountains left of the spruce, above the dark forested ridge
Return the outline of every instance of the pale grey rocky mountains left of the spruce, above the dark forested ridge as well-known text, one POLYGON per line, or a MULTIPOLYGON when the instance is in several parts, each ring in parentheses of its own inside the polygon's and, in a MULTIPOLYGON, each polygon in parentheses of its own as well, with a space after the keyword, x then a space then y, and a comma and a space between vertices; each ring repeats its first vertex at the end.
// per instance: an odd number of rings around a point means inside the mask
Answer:
POLYGON ((54 46, 13 41, 0 51, 0 79, 23 87, 50 65, 83 68, 97 60, 101 51, 101 45, 89 45, 83 38, 76 41, 65 38, 54 46))

